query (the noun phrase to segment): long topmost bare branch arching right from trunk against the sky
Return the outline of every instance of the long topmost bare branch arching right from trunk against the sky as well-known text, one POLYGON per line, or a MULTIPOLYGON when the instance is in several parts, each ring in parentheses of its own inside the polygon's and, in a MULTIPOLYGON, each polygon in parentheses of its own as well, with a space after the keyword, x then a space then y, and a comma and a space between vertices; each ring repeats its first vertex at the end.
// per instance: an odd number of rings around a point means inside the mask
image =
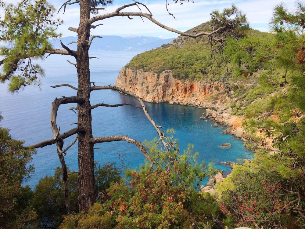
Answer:
POLYGON ((192 38, 196 38, 196 37, 199 37, 201 35, 207 35, 207 36, 211 36, 215 33, 217 33, 218 31, 222 30, 225 28, 225 26, 222 26, 222 27, 219 27, 218 29, 216 30, 213 30, 212 32, 199 32, 197 34, 190 34, 190 33, 185 33, 185 32, 181 32, 177 29, 174 29, 174 28, 171 28, 171 27, 168 27, 166 25, 163 25, 161 24, 159 21, 155 20, 151 14, 148 14, 148 13, 142 13, 142 12, 119 12, 121 9, 124 9, 128 6, 131 6, 131 5, 135 5, 135 3, 133 4, 129 4, 129 5, 124 5, 120 8, 118 8, 115 12, 113 13, 106 13, 106 14, 103 14, 103 15, 99 15, 99 16, 95 16, 93 18, 91 18, 89 20, 89 24, 92 24, 96 21, 99 21, 99 20, 103 20, 103 19, 106 19, 106 18, 111 18, 111 17, 116 17, 116 16, 141 16, 141 17, 146 17, 148 20, 152 21, 154 24, 160 26, 161 28, 163 29, 166 29, 168 31, 171 31, 171 32, 174 32, 174 33, 177 33, 177 34, 180 34, 180 35, 183 35, 183 36, 188 36, 188 37, 192 37, 192 38))

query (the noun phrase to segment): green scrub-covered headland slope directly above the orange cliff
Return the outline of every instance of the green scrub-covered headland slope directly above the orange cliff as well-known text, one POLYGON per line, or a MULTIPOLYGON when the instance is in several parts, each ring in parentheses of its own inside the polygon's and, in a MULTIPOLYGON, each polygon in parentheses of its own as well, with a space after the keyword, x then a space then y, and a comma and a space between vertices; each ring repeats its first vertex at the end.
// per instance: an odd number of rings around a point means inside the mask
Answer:
MULTIPOLYGON (((198 33, 210 30, 211 27, 209 22, 207 22, 187 32, 198 33)), ((268 39, 272 37, 271 34, 257 30, 250 30, 249 36, 256 38, 267 37, 268 39)), ((144 71, 152 71, 154 73, 172 70, 173 76, 181 80, 199 80, 205 78, 218 81, 224 70, 219 69, 217 71, 219 74, 216 75, 210 74, 207 70, 210 70, 211 64, 211 47, 207 36, 199 38, 179 36, 169 44, 135 56, 126 67, 132 69, 143 68, 144 71)))

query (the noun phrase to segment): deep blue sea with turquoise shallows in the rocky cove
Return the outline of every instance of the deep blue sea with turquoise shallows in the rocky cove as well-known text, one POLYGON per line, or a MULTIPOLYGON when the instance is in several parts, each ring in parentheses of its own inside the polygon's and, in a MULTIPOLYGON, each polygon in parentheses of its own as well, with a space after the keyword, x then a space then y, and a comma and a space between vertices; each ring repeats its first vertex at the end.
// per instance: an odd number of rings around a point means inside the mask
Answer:
MULTIPOLYGON (((122 66, 127 64, 137 52, 100 52, 91 53, 99 59, 91 59, 91 81, 96 85, 113 84, 122 66)), ((43 140, 52 139, 50 127, 51 103, 55 97, 73 96, 76 91, 67 87, 50 88, 52 85, 68 83, 77 86, 76 68, 66 61, 75 61, 71 57, 51 55, 41 66, 45 69, 46 77, 42 79, 41 88, 27 86, 17 94, 7 92, 7 85, 0 84, 0 111, 4 117, 0 125, 9 128, 15 139, 25 141, 25 145, 35 144, 43 140)), ((124 96, 116 91, 101 90, 91 93, 91 104, 96 103, 118 104, 133 103, 135 99, 124 96)), ((77 122, 77 115, 67 110, 75 104, 61 105, 57 115, 57 125, 63 133, 75 127, 70 123, 77 122)), ((179 139, 179 147, 185 149, 188 143, 194 144, 199 152, 199 160, 206 163, 213 162, 218 169, 229 172, 230 168, 220 164, 221 161, 235 161, 237 158, 249 158, 253 154, 246 151, 243 142, 230 134, 223 135, 220 126, 211 127, 210 120, 202 120, 199 117, 205 112, 196 107, 168 105, 167 103, 146 103, 151 117, 164 129, 174 128, 175 138, 179 139), (185 113, 185 115, 183 114, 185 113), (232 147, 222 150, 219 146, 223 143, 231 143, 232 147)), ((123 107, 98 107, 92 111, 93 136, 128 135, 139 141, 152 140, 157 137, 155 129, 147 120, 143 111, 131 106, 123 107)), ((65 140, 68 146, 75 136, 65 140)), ((116 162, 120 165, 122 156, 126 166, 137 167, 144 162, 144 156, 138 148, 126 142, 112 142, 96 144, 94 158, 97 162, 116 162)), ((65 157, 70 169, 77 171, 77 144, 67 151, 65 157)), ((56 166, 60 165, 56 153, 56 146, 39 148, 33 156, 32 163, 35 172, 32 178, 25 184, 34 187, 41 177, 53 175, 56 166)))

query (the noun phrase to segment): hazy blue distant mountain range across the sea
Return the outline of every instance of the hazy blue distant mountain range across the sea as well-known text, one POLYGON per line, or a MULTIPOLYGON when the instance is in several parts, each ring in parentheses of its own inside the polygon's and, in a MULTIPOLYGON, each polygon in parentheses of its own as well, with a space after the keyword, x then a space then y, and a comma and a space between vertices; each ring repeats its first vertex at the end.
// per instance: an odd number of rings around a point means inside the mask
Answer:
MULTIPOLYGON (((141 51, 145 52, 151 49, 167 44, 175 38, 162 39, 150 36, 103 36, 103 38, 94 38, 91 44, 91 51, 141 51)), ((70 42, 77 41, 77 37, 63 37, 52 40, 53 48, 62 48, 60 41, 67 45, 70 42)), ((76 44, 68 45, 69 48, 76 50, 76 44)))

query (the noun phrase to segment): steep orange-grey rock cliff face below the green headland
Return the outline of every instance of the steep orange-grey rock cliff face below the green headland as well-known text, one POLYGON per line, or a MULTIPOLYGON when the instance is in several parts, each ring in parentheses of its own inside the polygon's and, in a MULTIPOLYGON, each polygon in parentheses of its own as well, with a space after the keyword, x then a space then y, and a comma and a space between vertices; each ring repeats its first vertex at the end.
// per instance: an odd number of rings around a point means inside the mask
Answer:
POLYGON ((182 82, 173 77, 171 70, 156 74, 125 67, 120 71, 115 86, 135 93, 147 102, 202 107, 211 107, 207 97, 224 90, 224 85, 218 82, 182 82))

